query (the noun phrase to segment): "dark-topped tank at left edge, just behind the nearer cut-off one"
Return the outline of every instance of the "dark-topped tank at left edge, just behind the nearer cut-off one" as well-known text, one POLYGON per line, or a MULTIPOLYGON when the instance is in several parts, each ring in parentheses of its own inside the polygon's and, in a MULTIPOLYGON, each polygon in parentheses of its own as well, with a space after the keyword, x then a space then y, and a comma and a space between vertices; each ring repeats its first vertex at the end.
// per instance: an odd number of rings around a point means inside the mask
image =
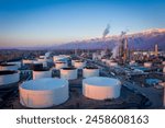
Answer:
POLYGON ((18 65, 11 65, 11 63, 1 63, 0 70, 18 70, 18 65))

